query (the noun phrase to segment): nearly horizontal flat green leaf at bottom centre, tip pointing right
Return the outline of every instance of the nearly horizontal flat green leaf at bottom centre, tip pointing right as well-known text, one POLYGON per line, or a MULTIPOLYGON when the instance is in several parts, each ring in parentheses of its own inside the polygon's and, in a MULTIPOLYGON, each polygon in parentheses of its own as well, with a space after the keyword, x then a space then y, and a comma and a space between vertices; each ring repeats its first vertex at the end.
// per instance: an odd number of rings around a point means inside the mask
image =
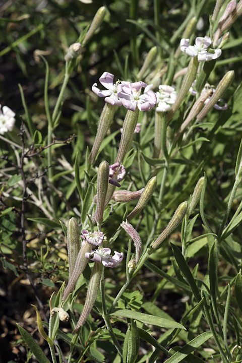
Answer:
POLYGON ((159 318, 159 317, 156 317, 153 315, 143 314, 143 313, 139 313, 139 312, 132 311, 132 310, 126 310, 126 309, 116 310, 111 315, 136 319, 136 320, 141 321, 142 323, 152 324, 152 325, 159 326, 162 328, 168 328, 168 329, 179 328, 179 329, 186 330, 186 328, 183 325, 173 322, 171 320, 162 319, 162 318, 159 318))

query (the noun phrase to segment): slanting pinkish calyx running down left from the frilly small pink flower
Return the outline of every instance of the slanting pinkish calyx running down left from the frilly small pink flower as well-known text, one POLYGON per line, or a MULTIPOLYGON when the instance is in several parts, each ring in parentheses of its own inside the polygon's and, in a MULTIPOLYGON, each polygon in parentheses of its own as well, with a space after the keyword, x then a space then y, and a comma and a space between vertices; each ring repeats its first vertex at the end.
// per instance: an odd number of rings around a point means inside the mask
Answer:
POLYGON ((79 254, 77 256, 73 274, 71 277, 69 277, 68 285, 62 296, 62 299, 64 301, 68 298, 69 294, 74 290, 77 280, 79 279, 79 277, 81 276, 87 265, 88 260, 86 259, 85 254, 90 253, 91 251, 92 251, 92 245, 84 241, 81 250, 79 251, 79 254))

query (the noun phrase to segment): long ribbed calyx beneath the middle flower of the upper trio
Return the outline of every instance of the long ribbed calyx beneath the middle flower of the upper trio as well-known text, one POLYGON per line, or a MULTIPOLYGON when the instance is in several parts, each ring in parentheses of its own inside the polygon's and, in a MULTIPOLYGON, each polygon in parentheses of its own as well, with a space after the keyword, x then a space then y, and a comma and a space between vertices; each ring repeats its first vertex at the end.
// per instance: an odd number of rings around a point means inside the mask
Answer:
POLYGON ((124 157, 128 151, 128 147, 133 138, 133 134, 135 131, 135 127, 138 121, 139 116, 139 108, 136 107, 135 111, 128 110, 124 125, 123 125, 123 133, 119 144, 119 149, 117 153, 117 157, 115 162, 119 162, 121 165, 123 163, 124 157))

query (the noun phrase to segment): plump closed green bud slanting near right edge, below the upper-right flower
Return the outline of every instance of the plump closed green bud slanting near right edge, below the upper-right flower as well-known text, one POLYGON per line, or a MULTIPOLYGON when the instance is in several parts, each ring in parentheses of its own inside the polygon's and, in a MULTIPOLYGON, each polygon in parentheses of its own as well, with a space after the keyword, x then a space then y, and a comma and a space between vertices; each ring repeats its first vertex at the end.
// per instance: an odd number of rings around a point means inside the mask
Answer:
POLYGON ((218 100, 222 97, 224 92, 228 89, 234 79, 234 71, 229 71, 226 75, 221 79, 216 88, 216 91, 210 98, 209 102, 202 109, 202 111, 197 115, 197 118, 202 121, 206 114, 210 111, 210 109, 218 102, 218 100))

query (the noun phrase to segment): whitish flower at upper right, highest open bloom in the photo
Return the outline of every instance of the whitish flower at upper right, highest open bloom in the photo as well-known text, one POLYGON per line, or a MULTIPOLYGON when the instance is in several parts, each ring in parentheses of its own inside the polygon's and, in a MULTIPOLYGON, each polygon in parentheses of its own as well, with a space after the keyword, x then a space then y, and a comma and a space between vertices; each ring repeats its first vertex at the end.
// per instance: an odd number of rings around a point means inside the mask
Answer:
POLYGON ((212 40, 208 36, 197 37, 195 45, 189 45, 189 39, 181 39, 180 50, 192 57, 198 56, 198 62, 212 61, 212 59, 219 57, 222 51, 221 49, 214 49, 214 53, 209 53, 207 49, 211 43, 212 40))

